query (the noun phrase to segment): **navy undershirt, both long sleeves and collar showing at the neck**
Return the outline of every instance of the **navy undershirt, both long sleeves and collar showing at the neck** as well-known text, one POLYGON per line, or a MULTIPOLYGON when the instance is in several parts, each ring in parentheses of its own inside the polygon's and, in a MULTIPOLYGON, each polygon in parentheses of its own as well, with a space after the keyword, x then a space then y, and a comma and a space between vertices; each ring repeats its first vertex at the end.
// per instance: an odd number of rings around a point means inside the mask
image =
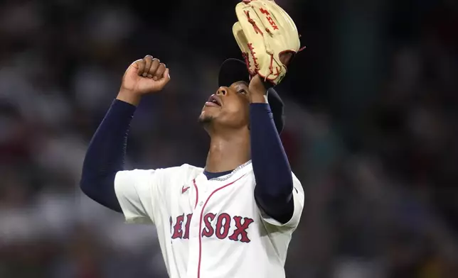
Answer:
MULTIPOLYGON (((136 107, 115 100, 95 132, 82 165, 80 187, 97 203, 122 212, 115 194, 115 176, 124 170, 127 135, 136 107)), ((252 167, 255 200, 262 211, 286 223, 294 211, 292 173, 268 104, 250 104, 252 167)), ((207 172, 207 179, 226 172, 207 172)))

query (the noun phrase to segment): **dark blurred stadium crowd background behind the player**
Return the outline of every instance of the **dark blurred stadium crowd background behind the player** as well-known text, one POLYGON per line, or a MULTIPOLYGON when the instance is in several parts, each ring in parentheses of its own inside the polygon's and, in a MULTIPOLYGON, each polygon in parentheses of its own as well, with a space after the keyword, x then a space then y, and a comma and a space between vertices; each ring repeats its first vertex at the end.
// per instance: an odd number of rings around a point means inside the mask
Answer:
MULTIPOLYGON (((307 45, 278 88, 307 199, 287 277, 458 277, 458 2, 277 2, 307 45)), ((236 3, 0 1, 1 278, 166 277, 154 227, 82 196, 82 159, 151 54, 172 81, 139 107, 127 167, 204 165, 236 3)))

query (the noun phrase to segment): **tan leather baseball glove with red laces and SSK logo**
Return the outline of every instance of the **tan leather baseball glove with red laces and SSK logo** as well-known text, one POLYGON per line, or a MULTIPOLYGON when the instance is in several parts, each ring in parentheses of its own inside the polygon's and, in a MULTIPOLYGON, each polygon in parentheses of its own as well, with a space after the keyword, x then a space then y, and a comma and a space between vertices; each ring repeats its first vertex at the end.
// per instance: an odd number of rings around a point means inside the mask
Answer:
POLYGON ((235 6, 235 13, 233 34, 250 75, 279 84, 287 73, 280 56, 302 50, 294 21, 273 0, 244 0, 235 6))

